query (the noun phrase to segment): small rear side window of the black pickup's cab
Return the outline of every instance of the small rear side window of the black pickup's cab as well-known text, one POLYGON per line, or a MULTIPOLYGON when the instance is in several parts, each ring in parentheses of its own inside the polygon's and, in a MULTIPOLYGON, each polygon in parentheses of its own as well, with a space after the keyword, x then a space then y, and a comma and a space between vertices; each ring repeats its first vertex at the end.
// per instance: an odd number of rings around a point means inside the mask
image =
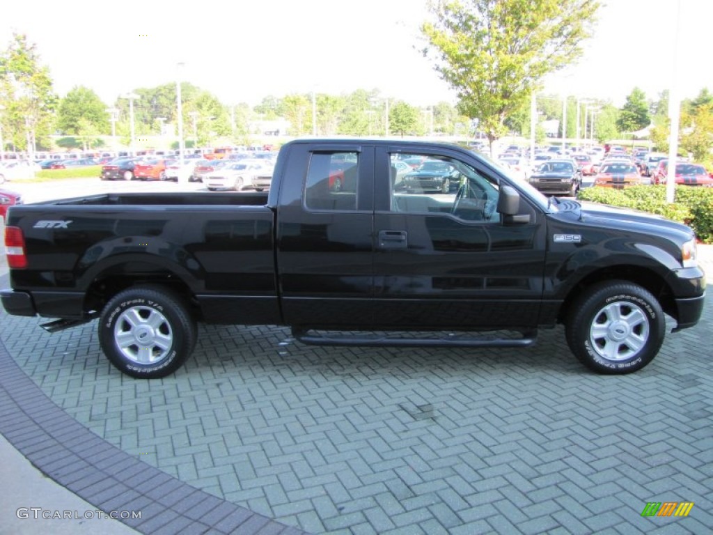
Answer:
POLYGON ((312 153, 304 205, 309 210, 356 210, 356 152, 312 153))

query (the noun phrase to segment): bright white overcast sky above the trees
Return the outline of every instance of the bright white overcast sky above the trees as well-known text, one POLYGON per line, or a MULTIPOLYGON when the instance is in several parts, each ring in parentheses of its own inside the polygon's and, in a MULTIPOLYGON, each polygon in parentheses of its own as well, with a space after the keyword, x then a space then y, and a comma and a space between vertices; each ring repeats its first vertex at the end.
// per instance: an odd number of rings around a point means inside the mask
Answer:
MULTIPOLYGON (((60 96, 86 86, 109 105, 179 76, 229 105, 374 88, 414 106, 455 103, 418 51, 427 1, 11 0, 0 47, 26 34, 60 96)), ((584 56, 543 91, 622 106, 635 86, 656 99, 673 79, 682 98, 713 90, 713 0, 605 0, 598 19, 584 56)))

